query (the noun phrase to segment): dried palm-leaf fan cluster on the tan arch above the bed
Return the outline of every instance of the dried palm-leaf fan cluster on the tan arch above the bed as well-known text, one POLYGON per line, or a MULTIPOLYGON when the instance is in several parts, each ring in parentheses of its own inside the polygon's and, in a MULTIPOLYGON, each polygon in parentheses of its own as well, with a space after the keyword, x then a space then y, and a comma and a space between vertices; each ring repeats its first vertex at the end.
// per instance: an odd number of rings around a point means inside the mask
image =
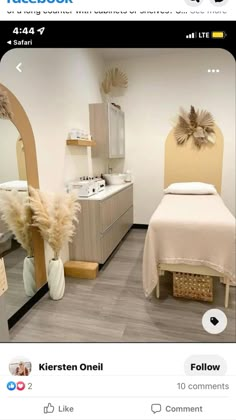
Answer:
POLYGON ((210 112, 195 110, 191 106, 190 112, 180 109, 178 123, 174 134, 179 145, 183 145, 190 137, 199 149, 203 145, 215 143, 214 119, 210 112))

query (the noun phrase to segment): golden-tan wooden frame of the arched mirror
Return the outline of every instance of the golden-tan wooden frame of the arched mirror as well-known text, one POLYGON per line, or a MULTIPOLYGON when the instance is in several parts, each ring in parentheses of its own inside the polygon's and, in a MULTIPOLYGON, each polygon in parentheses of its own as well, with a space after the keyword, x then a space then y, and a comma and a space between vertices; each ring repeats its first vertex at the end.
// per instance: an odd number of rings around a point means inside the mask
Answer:
MULTIPOLYGON (((28 184, 34 188, 39 188, 36 147, 29 118, 15 95, 13 95, 13 93, 1 83, 0 90, 7 93, 13 114, 11 121, 17 128, 23 141, 28 184)), ((33 247, 35 257, 35 280, 37 287, 40 288, 46 283, 47 275, 45 267, 44 241, 36 228, 33 228, 33 247)))

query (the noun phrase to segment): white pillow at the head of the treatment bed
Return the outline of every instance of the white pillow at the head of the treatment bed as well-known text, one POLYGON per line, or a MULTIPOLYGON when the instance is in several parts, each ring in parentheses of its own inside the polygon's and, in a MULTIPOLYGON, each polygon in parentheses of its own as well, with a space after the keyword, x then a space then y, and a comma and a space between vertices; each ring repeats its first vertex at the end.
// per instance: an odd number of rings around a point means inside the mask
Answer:
POLYGON ((165 194, 217 194, 212 184, 205 182, 176 182, 170 184, 165 190, 165 194))

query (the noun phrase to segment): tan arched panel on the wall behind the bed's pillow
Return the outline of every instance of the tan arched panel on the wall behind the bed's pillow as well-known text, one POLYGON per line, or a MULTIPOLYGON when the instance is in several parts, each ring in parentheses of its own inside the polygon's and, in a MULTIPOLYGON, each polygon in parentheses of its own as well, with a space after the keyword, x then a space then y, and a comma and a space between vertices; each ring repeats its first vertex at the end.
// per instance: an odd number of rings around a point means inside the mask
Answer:
POLYGON ((206 182, 221 192, 224 138, 215 126, 216 142, 198 149, 190 138, 178 145, 172 130, 165 142, 164 187, 174 182, 206 182))

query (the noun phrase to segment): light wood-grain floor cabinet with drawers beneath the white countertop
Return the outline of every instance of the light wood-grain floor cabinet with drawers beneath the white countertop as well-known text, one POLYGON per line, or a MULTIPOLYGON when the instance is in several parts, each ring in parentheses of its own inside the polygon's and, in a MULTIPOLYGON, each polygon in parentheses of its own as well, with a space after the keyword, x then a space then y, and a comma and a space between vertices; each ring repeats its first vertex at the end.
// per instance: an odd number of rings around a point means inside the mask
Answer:
POLYGON ((133 225, 133 185, 102 200, 80 200, 80 204, 70 260, 103 264, 133 225))

